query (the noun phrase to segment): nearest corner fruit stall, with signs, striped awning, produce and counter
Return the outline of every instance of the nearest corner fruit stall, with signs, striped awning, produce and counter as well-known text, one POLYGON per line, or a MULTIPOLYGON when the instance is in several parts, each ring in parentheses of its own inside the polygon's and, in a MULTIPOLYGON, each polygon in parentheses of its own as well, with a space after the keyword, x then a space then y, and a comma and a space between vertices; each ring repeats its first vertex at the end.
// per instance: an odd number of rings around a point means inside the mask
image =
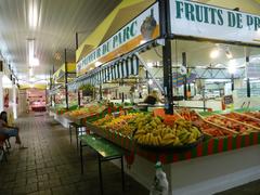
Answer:
POLYGON ((113 115, 101 105, 86 104, 65 116, 125 148, 128 173, 147 188, 158 160, 171 194, 212 194, 259 179, 259 109, 236 109, 233 101, 224 101, 239 88, 250 99, 251 65, 260 57, 253 17, 258 18, 184 0, 152 4, 77 60, 73 89, 91 84, 102 92, 105 84, 127 88, 134 80, 147 91, 156 89, 164 96, 164 108, 151 113, 122 108, 113 115), (195 15, 195 8, 204 18, 195 15), (212 88, 207 82, 211 79, 218 80, 212 88), (223 95, 212 101, 216 86, 223 95), (196 92, 203 100, 188 102, 196 92))

